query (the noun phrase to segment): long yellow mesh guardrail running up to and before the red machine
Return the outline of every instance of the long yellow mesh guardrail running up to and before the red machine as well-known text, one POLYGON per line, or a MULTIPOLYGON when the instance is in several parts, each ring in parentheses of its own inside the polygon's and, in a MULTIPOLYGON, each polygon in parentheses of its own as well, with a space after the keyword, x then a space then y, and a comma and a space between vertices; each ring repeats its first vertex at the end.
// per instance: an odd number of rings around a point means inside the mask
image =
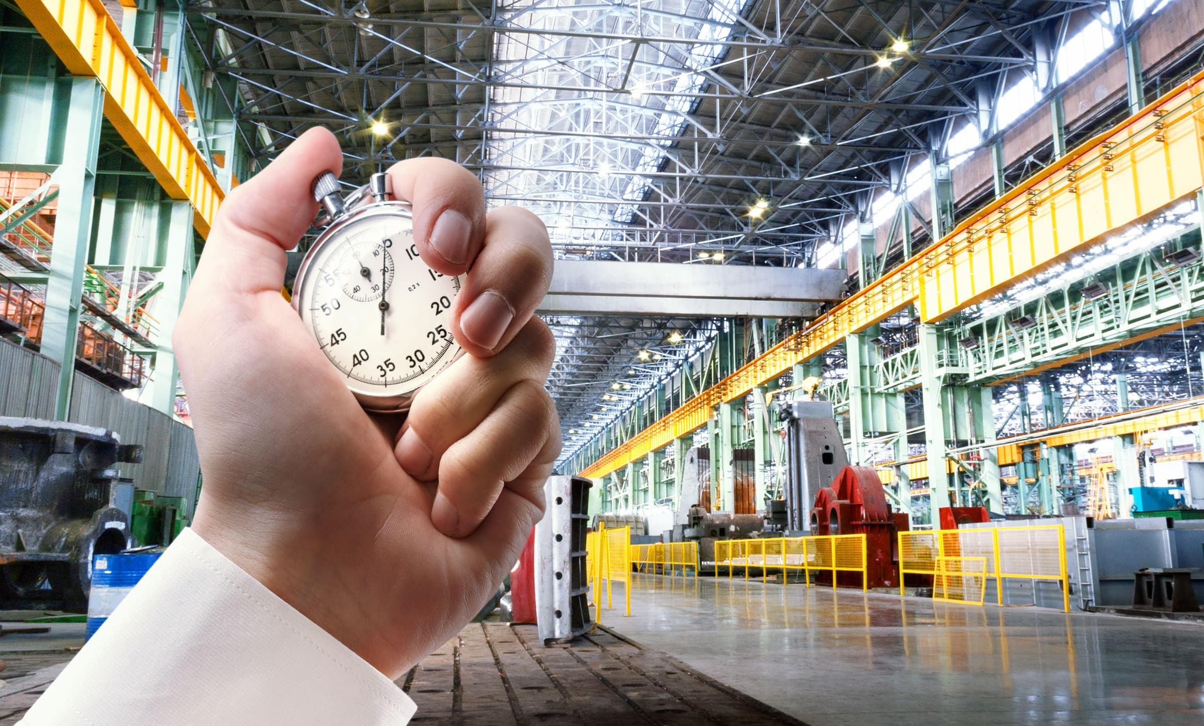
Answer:
POLYGON ((768 578, 769 569, 780 569, 783 577, 789 571, 803 572, 807 585, 811 584, 811 571, 831 572, 832 586, 837 586, 838 572, 860 572, 861 589, 869 585, 866 572, 864 535, 821 535, 814 537, 759 537, 755 539, 716 539, 715 574, 727 566, 727 577, 736 567, 749 571, 761 568, 761 580, 768 578))

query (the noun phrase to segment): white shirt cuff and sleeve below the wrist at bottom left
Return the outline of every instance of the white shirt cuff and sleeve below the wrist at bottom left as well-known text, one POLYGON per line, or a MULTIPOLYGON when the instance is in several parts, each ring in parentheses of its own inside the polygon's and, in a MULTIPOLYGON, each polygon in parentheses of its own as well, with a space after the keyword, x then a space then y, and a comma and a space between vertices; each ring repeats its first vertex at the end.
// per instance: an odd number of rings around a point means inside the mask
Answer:
POLYGON ((383 673, 185 530, 20 721, 400 725, 383 673))

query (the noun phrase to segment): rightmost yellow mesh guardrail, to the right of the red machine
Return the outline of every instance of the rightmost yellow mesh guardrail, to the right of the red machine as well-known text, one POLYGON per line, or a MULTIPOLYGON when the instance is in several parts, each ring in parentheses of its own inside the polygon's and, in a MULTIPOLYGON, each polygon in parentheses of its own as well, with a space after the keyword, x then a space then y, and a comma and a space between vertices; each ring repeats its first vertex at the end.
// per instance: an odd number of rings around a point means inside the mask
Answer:
POLYGON ((899 595, 908 574, 933 577, 936 584, 942 560, 981 559, 982 576, 995 579, 999 604, 1005 579, 1051 580, 1061 583, 1062 607, 1070 612, 1063 525, 899 532, 898 551, 899 595))

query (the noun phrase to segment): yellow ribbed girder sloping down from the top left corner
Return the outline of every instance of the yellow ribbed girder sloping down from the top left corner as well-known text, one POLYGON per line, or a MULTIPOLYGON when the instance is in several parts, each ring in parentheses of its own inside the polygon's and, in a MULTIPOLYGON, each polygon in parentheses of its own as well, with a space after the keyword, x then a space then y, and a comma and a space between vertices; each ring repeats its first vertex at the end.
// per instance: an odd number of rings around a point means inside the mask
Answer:
POLYGON ((171 199, 191 202, 193 225, 207 235, 225 195, 101 0, 17 5, 71 73, 100 81, 105 117, 171 199))

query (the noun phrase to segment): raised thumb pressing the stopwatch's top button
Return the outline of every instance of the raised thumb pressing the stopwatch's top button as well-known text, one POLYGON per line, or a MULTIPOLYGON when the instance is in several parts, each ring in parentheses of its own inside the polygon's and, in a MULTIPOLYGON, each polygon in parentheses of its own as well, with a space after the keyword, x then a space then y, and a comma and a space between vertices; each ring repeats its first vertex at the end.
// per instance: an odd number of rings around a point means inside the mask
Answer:
POLYGON ((324 171, 337 176, 342 160, 334 134, 318 126, 232 189, 218 211, 194 285, 278 293, 284 282, 284 252, 296 247, 317 213, 311 184, 324 171))

